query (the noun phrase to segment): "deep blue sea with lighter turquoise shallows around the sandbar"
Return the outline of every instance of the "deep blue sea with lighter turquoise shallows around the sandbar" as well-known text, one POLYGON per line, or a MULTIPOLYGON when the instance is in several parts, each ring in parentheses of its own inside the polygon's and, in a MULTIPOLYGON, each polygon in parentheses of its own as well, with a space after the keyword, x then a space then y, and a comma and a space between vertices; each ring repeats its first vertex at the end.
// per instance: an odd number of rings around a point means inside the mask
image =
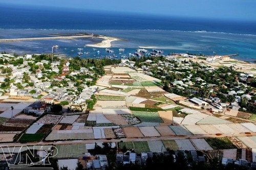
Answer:
MULTIPOLYGON (((0 39, 94 33, 122 39, 112 43, 116 56, 134 53, 139 46, 155 46, 164 54, 239 54, 234 58, 256 60, 256 22, 252 21, 0 5, 0 39), (120 47, 125 48, 122 54, 120 47)), ((51 53, 52 45, 58 45, 56 52, 67 56, 76 56, 77 48, 90 52, 82 57, 107 55, 104 48, 98 48, 102 53, 96 54, 92 47, 84 46, 97 42, 100 39, 0 42, 0 52, 51 53)))

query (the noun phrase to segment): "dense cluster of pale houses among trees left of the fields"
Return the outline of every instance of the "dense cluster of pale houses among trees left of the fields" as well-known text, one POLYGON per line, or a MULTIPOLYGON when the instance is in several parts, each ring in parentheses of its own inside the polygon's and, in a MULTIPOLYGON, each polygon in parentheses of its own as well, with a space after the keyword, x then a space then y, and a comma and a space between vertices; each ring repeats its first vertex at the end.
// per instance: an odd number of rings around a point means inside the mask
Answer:
MULTIPOLYGON (((12 59, 24 60, 23 64, 19 64, 18 66, 14 66, 13 64, 1 65, 3 68, 10 67, 12 69, 11 76, 9 78, 11 80, 13 79, 13 81, 10 84, 10 88, 5 90, 10 93, 10 96, 31 96, 36 99, 41 97, 42 101, 50 104, 54 101, 68 101, 69 103, 83 104, 87 99, 90 99, 91 95, 96 91, 96 89, 89 89, 88 86, 84 84, 87 81, 92 81, 91 78, 86 79, 86 81, 83 81, 79 85, 83 89, 81 93, 77 90, 77 87, 74 86, 76 82, 72 82, 72 80, 66 78, 66 75, 76 76, 79 74, 89 74, 90 76, 93 76, 94 72, 90 71, 90 69, 93 69, 94 67, 80 67, 80 70, 71 71, 69 69, 70 62, 66 61, 61 67, 61 70, 59 70, 58 66, 61 64, 60 61, 53 61, 49 63, 47 60, 41 60, 35 63, 36 66, 39 66, 39 69, 36 69, 35 74, 32 74, 29 62, 34 62, 34 59, 31 55, 14 58, 12 55, 4 54, 0 55, 0 57, 7 59, 8 61, 12 59), (46 64, 50 64, 48 69, 44 67, 46 64), (42 68, 45 68, 45 71, 42 71, 42 68), (48 79, 49 72, 56 72, 58 76, 54 76, 54 78, 50 80, 48 79), (29 82, 32 83, 33 86, 30 86, 28 83, 24 83, 23 79, 25 73, 29 75, 29 82), (58 86, 52 86, 53 81, 57 81, 58 86), (63 86, 60 83, 61 81, 68 82, 68 86, 63 86), (22 88, 17 86, 17 84, 20 84, 22 88)), ((5 82, 5 79, 5 74, 0 75, 0 84, 5 82)), ((1 94, 3 95, 3 92, 1 92, 1 94)))

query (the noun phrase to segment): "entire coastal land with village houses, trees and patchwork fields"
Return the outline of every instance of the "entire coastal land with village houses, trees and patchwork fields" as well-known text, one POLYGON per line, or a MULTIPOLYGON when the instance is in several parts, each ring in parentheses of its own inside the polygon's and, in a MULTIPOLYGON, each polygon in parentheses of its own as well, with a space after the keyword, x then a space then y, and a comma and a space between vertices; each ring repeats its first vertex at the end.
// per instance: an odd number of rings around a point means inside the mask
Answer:
POLYGON ((10 148, 21 144, 53 145, 48 163, 58 169, 147 169, 163 157, 180 169, 255 168, 255 64, 154 54, 0 54, 0 142, 9 147, 0 169, 16 163, 10 148))

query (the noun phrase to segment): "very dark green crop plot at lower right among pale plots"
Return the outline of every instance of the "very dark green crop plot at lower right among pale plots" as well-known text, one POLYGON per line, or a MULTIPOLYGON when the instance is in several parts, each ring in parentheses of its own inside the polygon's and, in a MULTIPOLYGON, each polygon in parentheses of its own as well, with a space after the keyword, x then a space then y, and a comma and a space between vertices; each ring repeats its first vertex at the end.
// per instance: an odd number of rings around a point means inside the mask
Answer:
POLYGON ((214 150, 237 149, 236 145, 234 145, 227 137, 205 138, 205 140, 214 150))

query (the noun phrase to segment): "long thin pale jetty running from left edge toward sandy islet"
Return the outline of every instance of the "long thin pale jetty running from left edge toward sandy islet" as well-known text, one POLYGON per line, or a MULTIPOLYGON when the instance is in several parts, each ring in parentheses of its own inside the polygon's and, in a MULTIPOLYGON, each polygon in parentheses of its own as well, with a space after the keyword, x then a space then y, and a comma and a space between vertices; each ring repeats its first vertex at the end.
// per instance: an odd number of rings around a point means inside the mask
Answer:
POLYGON ((59 36, 59 37, 38 37, 38 38, 13 38, 13 39, 0 39, 0 42, 8 41, 33 41, 33 40, 48 40, 48 39, 74 39, 74 38, 88 38, 92 35, 80 35, 80 36, 59 36))

